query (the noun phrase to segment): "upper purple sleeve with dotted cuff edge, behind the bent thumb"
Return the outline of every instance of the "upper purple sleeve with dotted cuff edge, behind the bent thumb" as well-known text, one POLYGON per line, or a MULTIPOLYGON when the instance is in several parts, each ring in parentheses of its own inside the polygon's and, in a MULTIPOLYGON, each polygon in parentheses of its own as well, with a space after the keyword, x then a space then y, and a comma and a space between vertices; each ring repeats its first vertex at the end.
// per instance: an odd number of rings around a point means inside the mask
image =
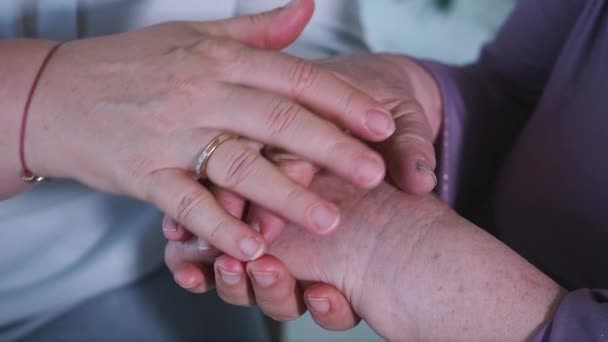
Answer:
POLYGON ((488 202, 585 2, 521 0, 476 63, 422 61, 443 97, 438 190, 461 214, 470 216, 488 202))

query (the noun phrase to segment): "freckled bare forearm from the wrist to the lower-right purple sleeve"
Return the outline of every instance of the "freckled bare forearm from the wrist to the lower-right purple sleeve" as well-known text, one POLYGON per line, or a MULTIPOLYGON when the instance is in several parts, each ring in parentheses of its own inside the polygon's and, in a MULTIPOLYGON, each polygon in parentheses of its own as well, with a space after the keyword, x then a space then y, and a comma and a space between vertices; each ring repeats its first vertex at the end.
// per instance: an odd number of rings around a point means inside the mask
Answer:
MULTIPOLYGON (((396 229, 392 236, 403 235, 403 227, 396 229)), ((394 278, 381 282, 377 305, 368 303, 362 315, 391 340, 412 338, 403 335, 411 331, 434 340, 524 340, 553 317, 564 296, 522 257, 451 211, 414 236, 415 244, 404 242, 401 254, 393 253, 400 255, 394 278)))

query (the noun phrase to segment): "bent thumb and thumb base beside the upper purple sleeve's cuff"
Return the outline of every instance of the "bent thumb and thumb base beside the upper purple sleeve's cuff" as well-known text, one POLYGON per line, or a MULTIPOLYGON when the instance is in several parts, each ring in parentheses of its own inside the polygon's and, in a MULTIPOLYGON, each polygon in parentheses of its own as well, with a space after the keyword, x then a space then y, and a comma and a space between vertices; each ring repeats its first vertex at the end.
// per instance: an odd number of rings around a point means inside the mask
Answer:
POLYGON ((397 186, 409 194, 432 191, 437 185, 434 142, 442 122, 433 77, 411 59, 390 54, 337 56, 321 65, 391 111, 395 133, 377 147, 397 186))

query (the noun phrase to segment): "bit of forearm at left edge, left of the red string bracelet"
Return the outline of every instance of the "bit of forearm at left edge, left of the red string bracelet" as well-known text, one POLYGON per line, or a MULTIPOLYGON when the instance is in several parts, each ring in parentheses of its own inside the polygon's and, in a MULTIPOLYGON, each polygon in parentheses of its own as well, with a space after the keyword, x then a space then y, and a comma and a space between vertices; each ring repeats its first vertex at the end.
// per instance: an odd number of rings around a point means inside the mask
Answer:
POLYGON ((29 188, 20 178, 21 120, 36 72, 53 45, 43 40, 0 41, 0 200, 29 188))

